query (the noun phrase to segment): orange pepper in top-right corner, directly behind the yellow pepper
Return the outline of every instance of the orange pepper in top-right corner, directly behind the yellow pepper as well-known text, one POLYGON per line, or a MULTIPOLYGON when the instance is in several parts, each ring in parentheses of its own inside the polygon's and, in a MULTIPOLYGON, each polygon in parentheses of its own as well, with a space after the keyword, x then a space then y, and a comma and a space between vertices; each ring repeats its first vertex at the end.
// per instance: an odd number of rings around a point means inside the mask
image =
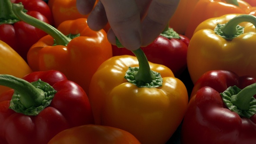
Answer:
POLYGON ((196 27, 209 18, 229 13, 250 14, 252 11, 255 9, 243 0, 199 0, 191 12, 185 36, 191 39, 196 27))

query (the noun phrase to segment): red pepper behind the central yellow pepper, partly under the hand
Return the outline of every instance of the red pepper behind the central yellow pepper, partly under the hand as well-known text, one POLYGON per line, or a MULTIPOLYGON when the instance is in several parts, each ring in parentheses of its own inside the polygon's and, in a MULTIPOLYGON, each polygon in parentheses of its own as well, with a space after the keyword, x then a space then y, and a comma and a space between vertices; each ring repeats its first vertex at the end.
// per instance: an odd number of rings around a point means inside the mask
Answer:
MULTIPOLYGON (((175 77, 187 68, 187 47, 190 42, 186 36, 176 33, 172 28, 165 29, 153 43, 141 49, 148 61, 165 65, 174 73, 175 77)), ((128 49, 112 45, 113 56, 131 55, 128 49)))

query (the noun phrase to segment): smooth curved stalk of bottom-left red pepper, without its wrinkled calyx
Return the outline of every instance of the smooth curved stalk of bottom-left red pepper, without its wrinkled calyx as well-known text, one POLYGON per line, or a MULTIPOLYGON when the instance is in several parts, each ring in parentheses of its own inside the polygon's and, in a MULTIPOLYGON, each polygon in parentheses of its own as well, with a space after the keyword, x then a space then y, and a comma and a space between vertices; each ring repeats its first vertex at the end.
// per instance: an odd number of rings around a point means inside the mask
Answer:
POLYGON ((20 102, 26 107, 41 105, 45 95, 43 90, 35 88, 30 82, 12 75, 0 75, 0 85, 13 88, 20 94, 20 102))

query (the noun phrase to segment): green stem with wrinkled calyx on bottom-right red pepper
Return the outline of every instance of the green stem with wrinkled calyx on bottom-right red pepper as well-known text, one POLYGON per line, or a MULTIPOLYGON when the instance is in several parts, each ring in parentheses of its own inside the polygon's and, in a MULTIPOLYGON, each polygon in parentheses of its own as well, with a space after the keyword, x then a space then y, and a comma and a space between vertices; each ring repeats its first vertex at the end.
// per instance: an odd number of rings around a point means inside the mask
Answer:
POLYGON ((220 93, 225 105, 240 116, 250 118, 256 113, 256 83, 246 86, 242 90, 237 86, 232 86, 220 93))

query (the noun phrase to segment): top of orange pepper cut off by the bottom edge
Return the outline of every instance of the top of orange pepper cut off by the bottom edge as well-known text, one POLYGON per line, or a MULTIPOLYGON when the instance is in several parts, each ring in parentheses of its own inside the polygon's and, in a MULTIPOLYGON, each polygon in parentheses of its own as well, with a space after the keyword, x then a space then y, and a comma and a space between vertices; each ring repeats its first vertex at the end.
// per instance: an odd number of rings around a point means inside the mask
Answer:
POLYGON ((141 144, 119 128, 86 124, 61 131, 48 144, 141 144))

